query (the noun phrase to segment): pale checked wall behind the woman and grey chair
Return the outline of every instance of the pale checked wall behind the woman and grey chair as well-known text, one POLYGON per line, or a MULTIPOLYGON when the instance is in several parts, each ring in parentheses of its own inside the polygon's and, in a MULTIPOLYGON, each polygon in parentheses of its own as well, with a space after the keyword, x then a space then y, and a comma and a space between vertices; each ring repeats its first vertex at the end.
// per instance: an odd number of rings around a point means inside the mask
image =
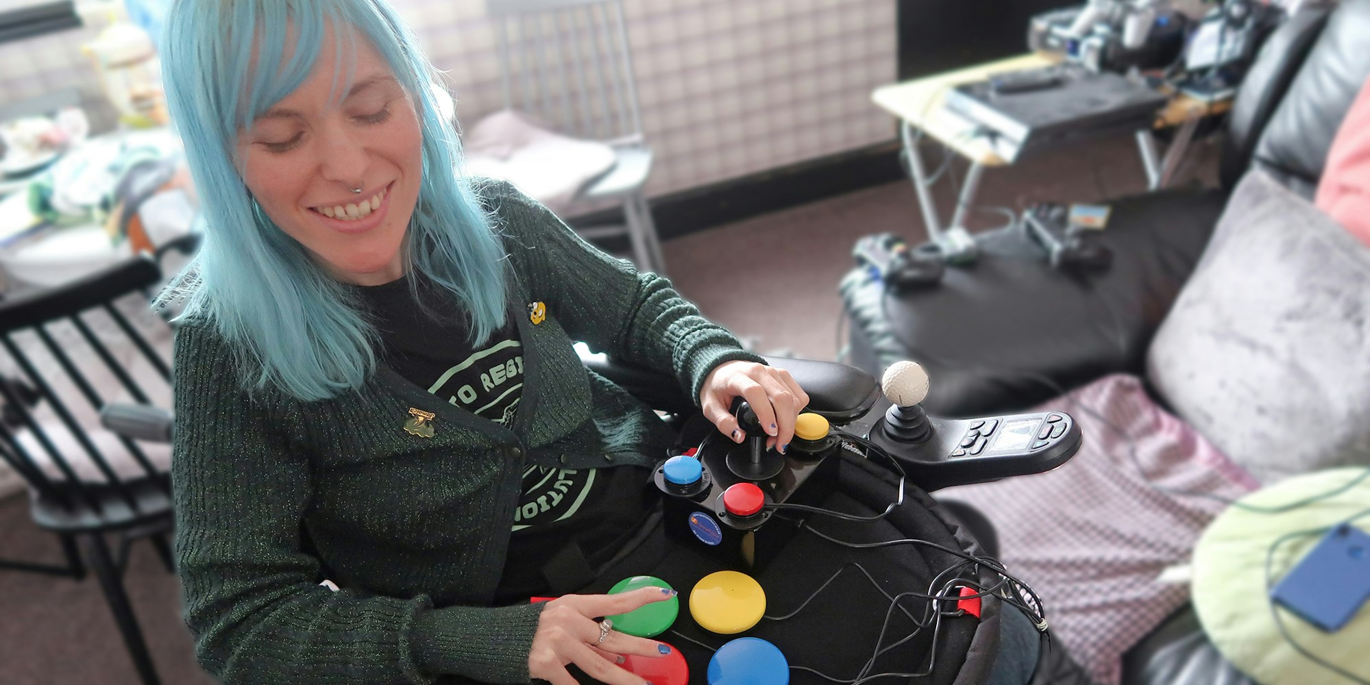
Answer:
MULTIPOLYGON (((466 125, 501 104, 485 0, 392 0, 447 73, 466 125)), ((870 101, 895 79, 891 0, 625 0, 659 195, 893 137, 870 101)), ((92 30, 0 45, 0 103, 99 85, 78 53, 92 30)), ((110 125, 110 111, 92 116, 110 125)))

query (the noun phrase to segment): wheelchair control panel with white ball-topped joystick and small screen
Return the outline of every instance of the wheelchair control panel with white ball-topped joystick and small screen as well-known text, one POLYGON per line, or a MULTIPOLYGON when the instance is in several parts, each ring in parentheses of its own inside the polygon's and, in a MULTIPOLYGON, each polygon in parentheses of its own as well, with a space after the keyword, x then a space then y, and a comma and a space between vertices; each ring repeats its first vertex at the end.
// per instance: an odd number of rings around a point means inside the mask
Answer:
POLYGON ((895 362, 881 378, 889 410, 870 429, 870 441, 899 460, 910 482, 932 492, 948 485, 997 481, 1055 469, 1080 449, 1080 425, 1066 412, 1014 414, 974 419, 927 416, 927 373, 895 362))

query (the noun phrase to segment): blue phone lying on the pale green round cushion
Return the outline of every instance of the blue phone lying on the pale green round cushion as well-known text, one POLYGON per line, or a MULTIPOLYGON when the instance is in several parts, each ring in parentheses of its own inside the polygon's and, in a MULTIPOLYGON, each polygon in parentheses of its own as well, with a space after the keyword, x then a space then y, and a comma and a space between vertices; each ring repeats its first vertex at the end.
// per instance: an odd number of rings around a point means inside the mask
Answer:
POLYGON ((1332 633, 1370 599, 1370 534, 1349 523, 1328 532, 1270 596, 1332 633))

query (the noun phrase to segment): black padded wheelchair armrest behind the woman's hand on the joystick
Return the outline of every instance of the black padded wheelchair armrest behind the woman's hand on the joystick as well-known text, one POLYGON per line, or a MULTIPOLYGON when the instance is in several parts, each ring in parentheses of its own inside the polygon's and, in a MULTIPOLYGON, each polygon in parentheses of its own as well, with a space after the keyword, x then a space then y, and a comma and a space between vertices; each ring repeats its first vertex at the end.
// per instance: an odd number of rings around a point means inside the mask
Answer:
MULTIPOLYGON (((656 410, 684 414, 695 411, 680 382, 669 374, 625 364, 612 359, 584 359, 595 371, 656 410)), ((866 371, 836 362, 767 356, 766 363, 785 369, 808 393, 808 411, 845 425, 863 416, 880 399, 880 385, 866 371)))

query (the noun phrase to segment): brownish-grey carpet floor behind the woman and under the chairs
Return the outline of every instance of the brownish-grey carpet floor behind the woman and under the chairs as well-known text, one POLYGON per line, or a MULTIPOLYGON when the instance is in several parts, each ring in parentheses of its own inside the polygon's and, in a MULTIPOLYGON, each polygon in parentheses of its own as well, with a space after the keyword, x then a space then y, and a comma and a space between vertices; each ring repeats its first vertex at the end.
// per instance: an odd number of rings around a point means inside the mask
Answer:
MULTIPOLYGON (((936 155, 929 164, 938 164, 936 155)), ((1211 184, 1215 167, 1217 147, 1200 142, 1180 182, 1211 184)), ((1029 200, 1088 201, 1143 189, 1132 138, 1118 137, 991 170, 978 204, 1019 208, 1029 200)), ((949 184, 941 184, 937 199, 944 211, 954 206, 949 184)), ((970 223, 988 229, 1001 222, 985 211, 970 223)), ((664 251, 677 288, 755 349, 833 359, 840 349, 837 282, 852 264, 854 241, 880 232, 901 234, 911 244, 926 236, 908 182, 695 233, 667 241, 664 251)), ((22 496, 0 501, 0 558, 60 559, 55 538, 30 522, 22 496)), ((147 544, 134 548, 126 585, 162 681, 214 682, 195 663, 179 621, 175 577, 147 544)), ((0 570, 0 682, 137 682, 93 581, 0 570)))

